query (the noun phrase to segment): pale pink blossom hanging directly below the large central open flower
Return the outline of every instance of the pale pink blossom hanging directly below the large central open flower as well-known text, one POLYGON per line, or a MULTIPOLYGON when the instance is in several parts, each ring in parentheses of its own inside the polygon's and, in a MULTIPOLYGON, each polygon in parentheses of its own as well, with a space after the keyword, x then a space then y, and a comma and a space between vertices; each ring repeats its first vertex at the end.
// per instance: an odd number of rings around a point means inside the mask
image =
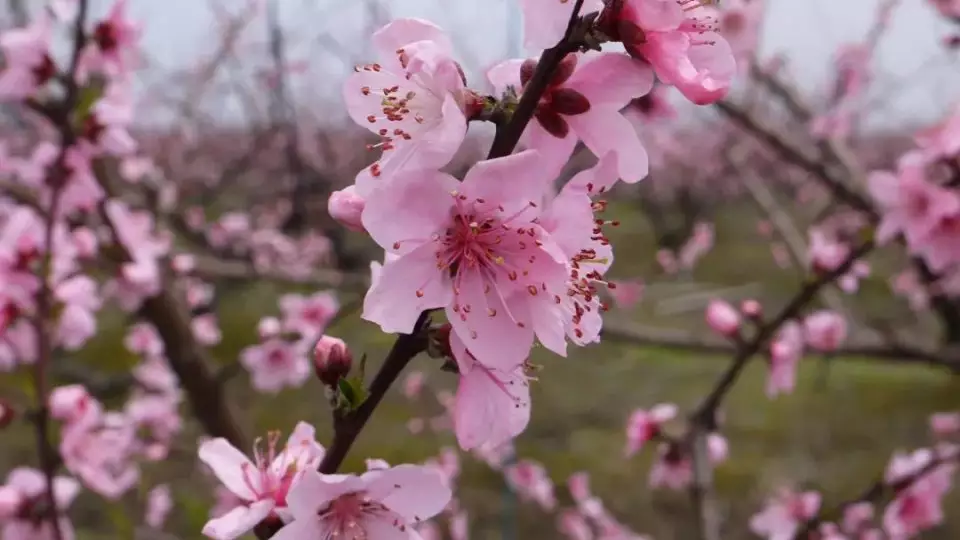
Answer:
POLYGON ((530 422, 530 385, 523 366, 511 371, 488 368, 476 361, 455 332, 450 334, 450 348, 460 368, 453 409, 460 448, 499 446, 522 433, 530 422))

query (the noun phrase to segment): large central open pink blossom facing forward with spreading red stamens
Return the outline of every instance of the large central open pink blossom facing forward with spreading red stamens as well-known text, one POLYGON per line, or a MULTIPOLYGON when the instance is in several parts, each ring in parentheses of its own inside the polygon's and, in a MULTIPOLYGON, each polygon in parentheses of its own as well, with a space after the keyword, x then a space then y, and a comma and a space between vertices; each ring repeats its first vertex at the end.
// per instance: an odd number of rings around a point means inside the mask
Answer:
POLYGON ((397 255, 364 300, 363 317, 411 332, 445 308, 476 359, 510 372, 534 335, 566 354, 566 256, 537 223, 551 178, 532 150, 481 161, 462 183, 440 172, 397 175, 367 201, 364 226, 397 255))

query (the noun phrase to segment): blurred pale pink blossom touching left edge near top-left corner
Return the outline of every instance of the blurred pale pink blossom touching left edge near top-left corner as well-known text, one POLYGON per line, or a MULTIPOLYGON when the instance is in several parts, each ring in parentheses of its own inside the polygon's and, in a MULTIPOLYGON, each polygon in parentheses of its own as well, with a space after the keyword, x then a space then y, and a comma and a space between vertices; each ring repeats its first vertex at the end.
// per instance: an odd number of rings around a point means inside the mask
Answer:
POLYGON ((4 67, 0 71, 0 100, 31 96, 57 73, 50 57, 51 21, 38 17, 26 28, 5 30, 0 36, 4 67))

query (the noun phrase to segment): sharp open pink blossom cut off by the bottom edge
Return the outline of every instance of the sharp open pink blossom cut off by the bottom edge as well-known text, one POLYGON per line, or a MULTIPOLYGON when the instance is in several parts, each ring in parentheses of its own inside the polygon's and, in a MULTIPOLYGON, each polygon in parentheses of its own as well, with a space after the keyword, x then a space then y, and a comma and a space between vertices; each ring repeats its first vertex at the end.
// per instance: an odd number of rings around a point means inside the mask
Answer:
POLYGON ((410 538, 413 527, 443 511, 450 497, 430 467, 399 465, 360 476, 311 470, 287 496, 293 521, 273 538, 410 538))

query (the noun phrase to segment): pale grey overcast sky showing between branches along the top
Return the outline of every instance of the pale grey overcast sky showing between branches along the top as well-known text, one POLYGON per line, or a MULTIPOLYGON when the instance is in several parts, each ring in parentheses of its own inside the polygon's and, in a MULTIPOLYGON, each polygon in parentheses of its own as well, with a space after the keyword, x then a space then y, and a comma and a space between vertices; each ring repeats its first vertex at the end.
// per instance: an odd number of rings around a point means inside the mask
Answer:
MULTIPOLYGON (((501 60, 509 52, 511 17, 518 0, 381 0, 371 14, 364 0, 271 0, 291 36, 292 60, 309 60, 323 82, 311 80, 311 91, 336 99, 338 79, 365 53, 360 33, 371 16, 388 20, 417 16, 448 28, 458 40, 472 73, 501 60), (340 49, 339 51, 335 49, 340 49), (354 58, 344 58, 347 55, 354 58), (326 88, 320 88, 325 86, 326 88)), ((163 67, 151 75, 183 67, 198 52, 213 48, 217 26, 207 0, 130 0, 135 16, 146 22, 144 46, 163 67)), ((246 0, 219 0, 240 5, 246 0)), ((836 47, 861 39, 871 26, 880 0, 767 0, 763 35, 765 55, 783 52, 792 74, 807 89, 817 88, 830 74, 828 60, 836 47)), ((101 0, 101 4, 107 2, 101 0)), ((902 0, 877 59, 881 83, 874 89, 884 123, 933 118, 960 94, 960 57, 940 45, 949 25, 937 18, 927 0, 902 0)), ((265 39, 261 22, 251 28, 250 43, 265 39)), ((263 54, 256 46, 244 54, 263 54)), ((155 80, 155 78, 154 78, 155 80)), ((299 89, 301 92, 303 88, 299 89)), ((303 96, 300 96, 301 98, 303 96)))

